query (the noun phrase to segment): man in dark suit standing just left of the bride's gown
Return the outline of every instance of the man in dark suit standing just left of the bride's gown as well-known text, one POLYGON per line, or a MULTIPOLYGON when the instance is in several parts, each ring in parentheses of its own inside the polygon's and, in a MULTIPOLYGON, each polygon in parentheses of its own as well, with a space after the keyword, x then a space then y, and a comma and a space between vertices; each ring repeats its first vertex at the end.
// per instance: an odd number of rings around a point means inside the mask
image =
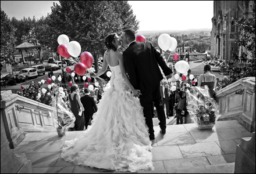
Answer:
POLYGON ((94 97, 90 96, 90 90, 88 88, 84 89, 84 96, 81 97, 81 103, 84 107, 84 125, 87 129, 90 119, 93 120, 93 114, 97 112, 97 106, 94 97))

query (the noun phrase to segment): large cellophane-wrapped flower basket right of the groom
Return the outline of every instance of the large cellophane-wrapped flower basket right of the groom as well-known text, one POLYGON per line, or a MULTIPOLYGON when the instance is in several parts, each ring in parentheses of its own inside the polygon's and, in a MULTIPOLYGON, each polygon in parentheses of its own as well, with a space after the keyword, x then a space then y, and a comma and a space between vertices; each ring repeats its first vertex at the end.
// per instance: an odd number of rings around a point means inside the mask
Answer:
POLYGON ((212 129, 219 118, 218 104, 210 97, 208 86, 191 87, 186 91, 187 111, 199 129, 212 129))

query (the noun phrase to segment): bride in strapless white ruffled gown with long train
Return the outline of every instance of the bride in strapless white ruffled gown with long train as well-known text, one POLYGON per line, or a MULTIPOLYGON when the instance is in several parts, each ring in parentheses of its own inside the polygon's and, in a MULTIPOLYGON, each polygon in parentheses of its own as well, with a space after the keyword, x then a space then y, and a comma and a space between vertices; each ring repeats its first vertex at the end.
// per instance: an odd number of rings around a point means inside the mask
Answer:
POLYGON ((122 53, 117 51, 121 46, 118 35, 109 34, 105 45, 103 66, 91 77, 104 74, 109 66, 111 88, 102 96, 91 128, 79 139, 66 141, 61 157, 76 165, 111 171, 154 170, 148 127, 137 98, 140 90, 133 88, 126 75, 122 53))

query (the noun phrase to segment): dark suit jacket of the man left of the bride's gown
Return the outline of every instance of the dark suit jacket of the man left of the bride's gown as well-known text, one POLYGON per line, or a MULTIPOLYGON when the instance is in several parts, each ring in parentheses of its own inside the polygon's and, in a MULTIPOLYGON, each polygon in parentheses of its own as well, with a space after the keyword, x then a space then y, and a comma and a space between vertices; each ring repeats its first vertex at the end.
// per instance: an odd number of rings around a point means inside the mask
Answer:
POLYGON ((85 115, 93 115, 94 113, 97 112, 97 106, 94 101, 94 97, 85 95, 80 98, 81 103, 83 104, 84 107, 84 114, 85 115))

